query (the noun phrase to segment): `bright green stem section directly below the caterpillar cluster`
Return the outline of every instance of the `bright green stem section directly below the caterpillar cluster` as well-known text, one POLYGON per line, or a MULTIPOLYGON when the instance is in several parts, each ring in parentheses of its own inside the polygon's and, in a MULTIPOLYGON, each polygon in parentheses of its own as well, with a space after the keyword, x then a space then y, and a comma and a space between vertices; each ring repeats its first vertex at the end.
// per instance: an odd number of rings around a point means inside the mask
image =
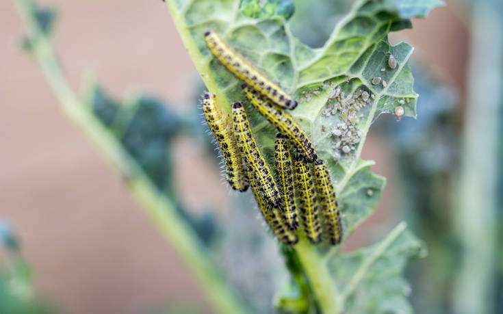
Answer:
POLYGON ((328 271, 318 248, 309 243, 306 237, 301 236, 295 250, 322 313, 341 313, 343 304, 340 293, 331 280, 333 276, 328 271))

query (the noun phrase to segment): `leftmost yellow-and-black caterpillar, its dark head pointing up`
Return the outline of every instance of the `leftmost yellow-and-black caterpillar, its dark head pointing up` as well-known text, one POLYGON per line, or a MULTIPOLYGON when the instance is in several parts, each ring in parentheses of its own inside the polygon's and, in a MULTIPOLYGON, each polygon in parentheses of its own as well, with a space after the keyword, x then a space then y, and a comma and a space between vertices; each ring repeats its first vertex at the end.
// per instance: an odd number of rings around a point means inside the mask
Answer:
POLYGON ((215 94, 206 92, 203 95, 203 112, 208 122, 208 127, 215 135, 225 163, 225 176, 233 189, 245 192, 248 189, 244 166, 239 148, 229 123, 229 118, 224 116, 216 106, 215 94))

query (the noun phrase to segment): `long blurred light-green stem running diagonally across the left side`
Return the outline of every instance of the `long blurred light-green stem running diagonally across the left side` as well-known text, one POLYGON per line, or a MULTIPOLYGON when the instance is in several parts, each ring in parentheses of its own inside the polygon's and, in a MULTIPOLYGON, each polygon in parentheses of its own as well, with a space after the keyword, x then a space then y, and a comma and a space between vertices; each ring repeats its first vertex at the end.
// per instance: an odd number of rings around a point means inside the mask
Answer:
POLYGON ((188 265, 207 293, 215 311, 232 314, 246 312, 246 306, 238 301, 227 287, 192 228, 177 214, 174 202, 158 192, 136 161, 90 112, 90 106, 75 96, 57 62, 51 43, 36 21, 34 3, 31 0, 16 0, 16 6, 29 31, 31 52, 40 64, 64 112, 97 146, 105 159, 127 175, 131 193, 188 265))

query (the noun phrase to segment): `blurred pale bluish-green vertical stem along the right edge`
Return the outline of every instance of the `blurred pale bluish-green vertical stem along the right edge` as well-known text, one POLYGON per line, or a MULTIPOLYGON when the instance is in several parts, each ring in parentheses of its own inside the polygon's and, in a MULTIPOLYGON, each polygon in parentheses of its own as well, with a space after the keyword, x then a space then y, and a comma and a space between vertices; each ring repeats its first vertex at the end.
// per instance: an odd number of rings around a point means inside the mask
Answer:
POLYGON ((503 99, 503 27, 498 0, 472 3, 465 134, 456 200, 463 247, 454 293, 456 313, 494 313, 497 170, 503 99))

